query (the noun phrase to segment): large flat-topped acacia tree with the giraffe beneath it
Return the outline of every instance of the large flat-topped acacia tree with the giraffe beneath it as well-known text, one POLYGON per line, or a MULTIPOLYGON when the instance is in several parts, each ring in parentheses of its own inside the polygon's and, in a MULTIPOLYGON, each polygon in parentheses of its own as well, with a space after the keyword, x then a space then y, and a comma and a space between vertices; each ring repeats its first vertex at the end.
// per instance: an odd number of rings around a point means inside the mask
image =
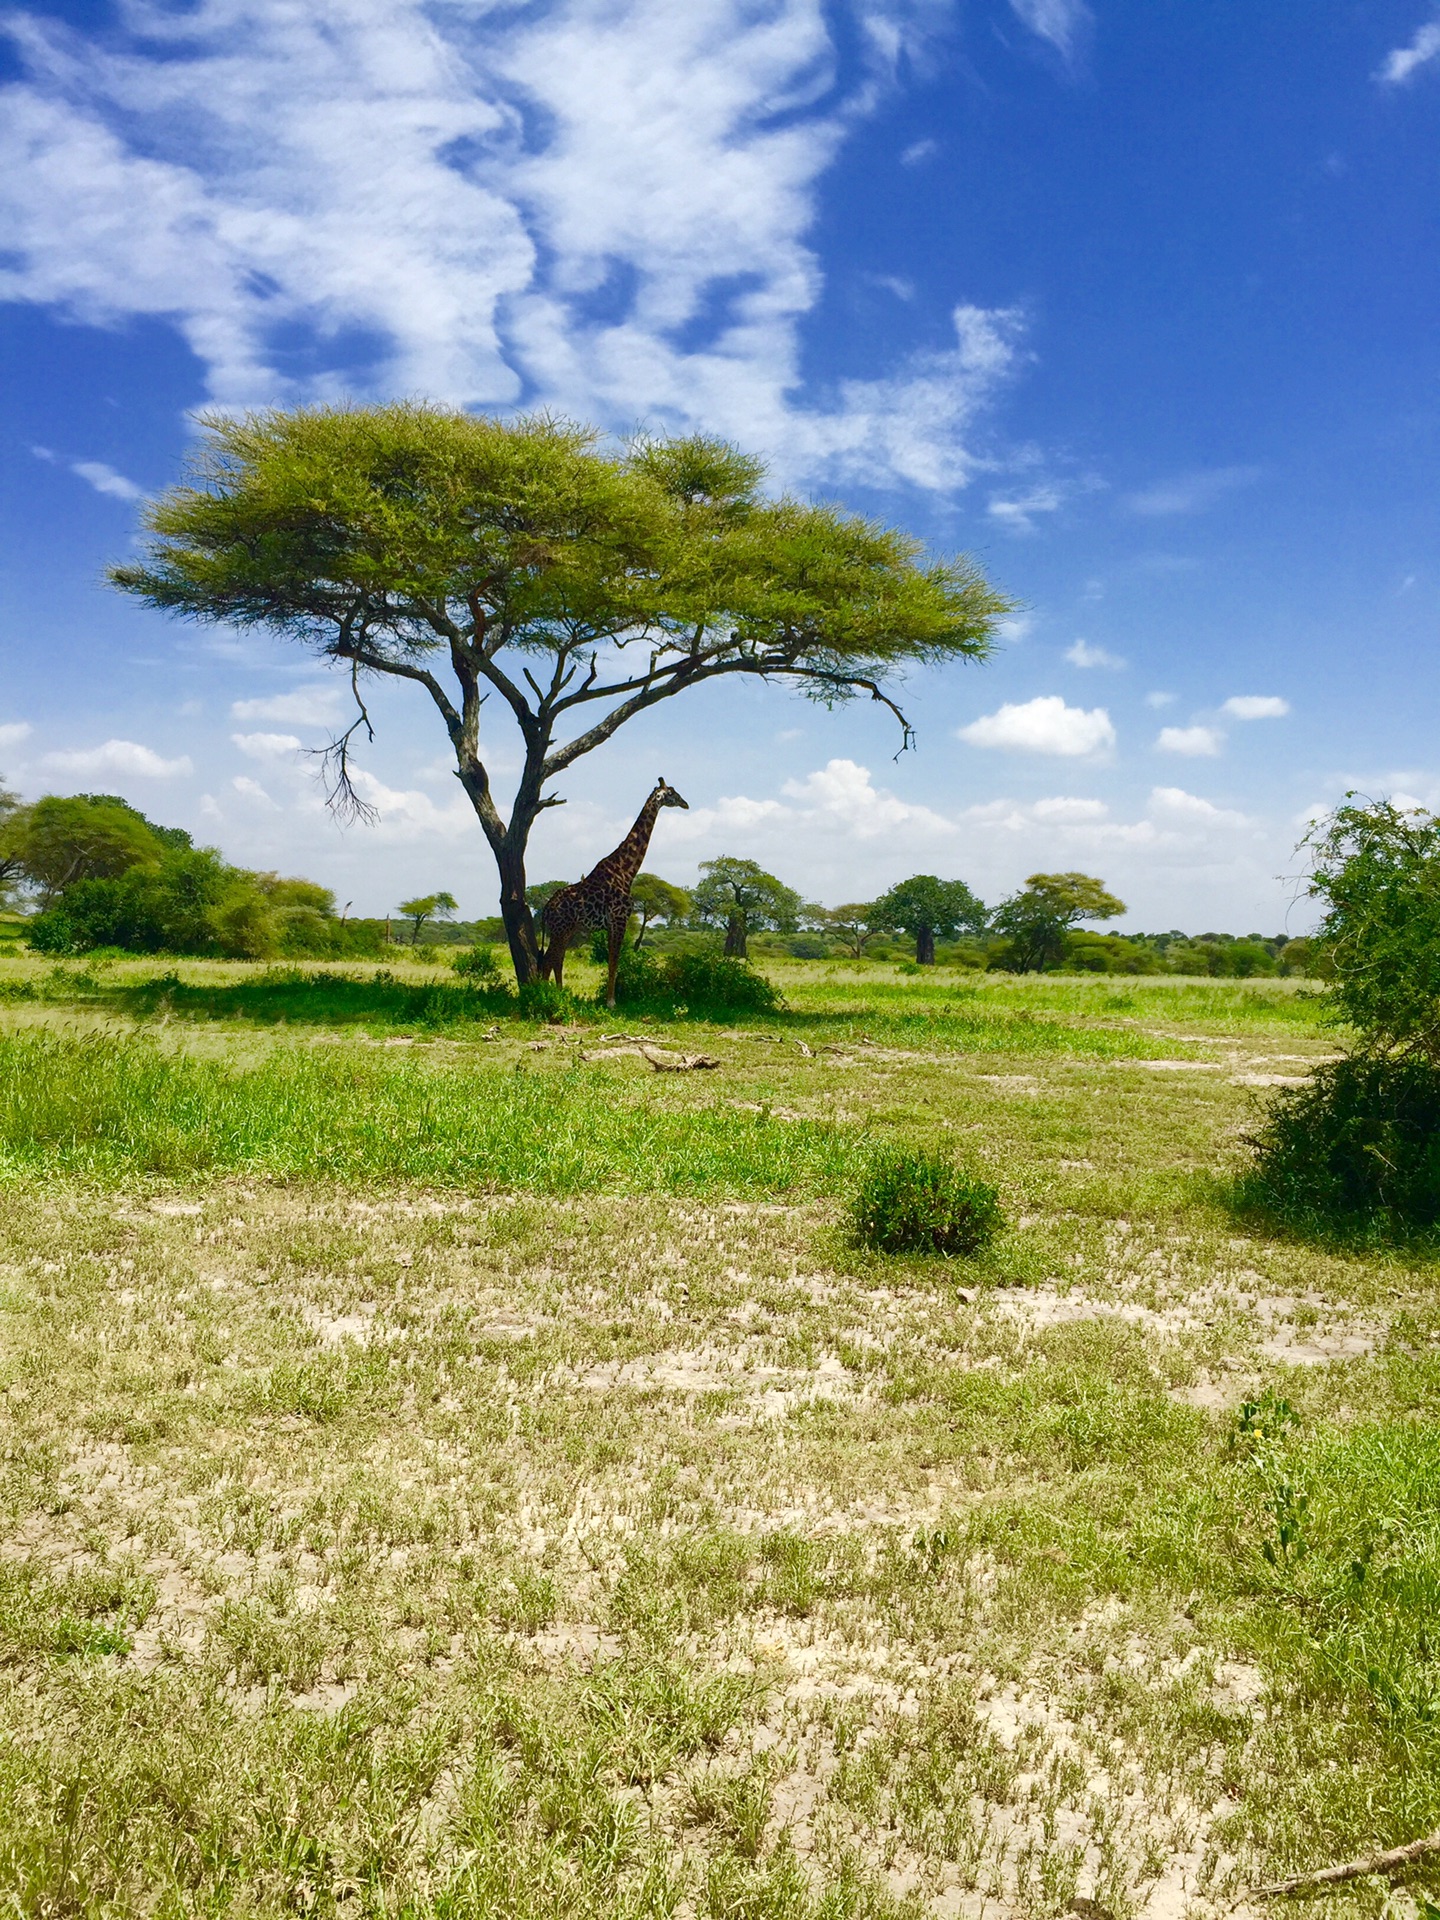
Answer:
POLYGON ((355 735, 367 680, 434 701, 499 870, 516 979, 540 972, 530 829, 576 760, 636 714, 735 674, 835 703, 906 666, 983 659, 1008 601, 966 559, 829 505, 770 499, 718 440, 609 449, 566 420, 422 403, 211 415, 188 482, 150 505, 142 564, 111 582, 152 607, 259 626, 349 674, 330 801, 365 814, 355 735), (480 708, 497 697, 522 764, 501 810, 480 708))

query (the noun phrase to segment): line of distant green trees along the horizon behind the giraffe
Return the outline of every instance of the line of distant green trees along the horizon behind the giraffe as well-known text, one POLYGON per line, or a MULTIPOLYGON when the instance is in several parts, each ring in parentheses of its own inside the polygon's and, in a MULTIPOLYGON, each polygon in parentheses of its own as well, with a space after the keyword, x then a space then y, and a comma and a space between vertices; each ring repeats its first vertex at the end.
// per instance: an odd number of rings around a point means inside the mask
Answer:
MULTIPOLYGON (((526 889, 530 912, 564 881, 526 889)), ((23 904, 25 935, 40 952, 211 954, 236 960, 344 958, 386 945, 495 941, 503 924, 459 922, 438 889, 401 900, 396 922, 349 920, 328 887, 230 866, 196 847, 182 828, 148 820, 113 793, 48 795, 21 806, 0 785, 0 904, 23 904)), ((1100 933, 1125 912, 1091 874, 1031 874, 987 908, 962 879, 912 874, 876 900, 808 902, 755 860, 724 854, 701 864, 695 887, 639 874, 632 945, 720 943, 730 958, 753 952, 826 960, 912 960, 1031 972, 1304 973, 1308 941, 1260 933, 1100 933)))

